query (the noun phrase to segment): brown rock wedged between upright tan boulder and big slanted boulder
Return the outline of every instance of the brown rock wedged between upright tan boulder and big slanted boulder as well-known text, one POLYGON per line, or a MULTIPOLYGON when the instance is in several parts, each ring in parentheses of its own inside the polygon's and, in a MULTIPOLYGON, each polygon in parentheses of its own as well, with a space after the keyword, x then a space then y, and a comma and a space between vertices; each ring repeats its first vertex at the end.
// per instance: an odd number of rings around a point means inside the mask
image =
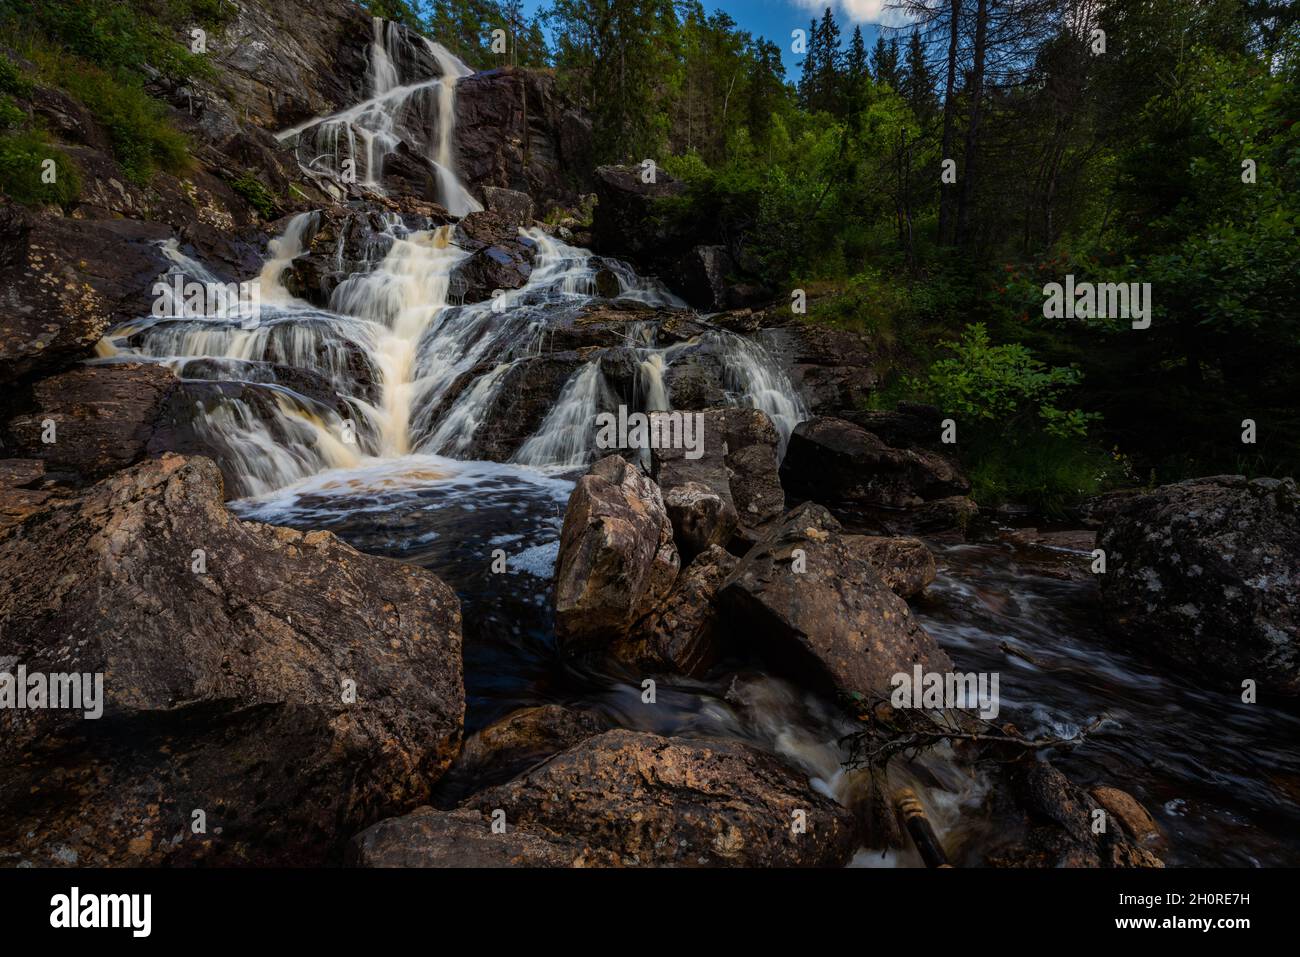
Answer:
POLYGON ((703 675, 722 654, 715 599, 737 560, 716 545, 696 555, 659 607, 615 642, 614 655, 641 671, 703 675))

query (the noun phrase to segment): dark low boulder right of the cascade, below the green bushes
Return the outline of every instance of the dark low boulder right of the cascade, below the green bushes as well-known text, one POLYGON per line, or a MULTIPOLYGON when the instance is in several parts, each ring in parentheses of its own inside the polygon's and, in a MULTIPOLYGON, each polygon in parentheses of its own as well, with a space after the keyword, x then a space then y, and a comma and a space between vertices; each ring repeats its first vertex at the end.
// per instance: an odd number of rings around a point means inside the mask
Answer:
POLYGON ((970 490, 950 459, 894 449, 853 423, 828 416, 794 428, 781 463, 781 482, 800 498, 885 508, 916 507, 970 490))

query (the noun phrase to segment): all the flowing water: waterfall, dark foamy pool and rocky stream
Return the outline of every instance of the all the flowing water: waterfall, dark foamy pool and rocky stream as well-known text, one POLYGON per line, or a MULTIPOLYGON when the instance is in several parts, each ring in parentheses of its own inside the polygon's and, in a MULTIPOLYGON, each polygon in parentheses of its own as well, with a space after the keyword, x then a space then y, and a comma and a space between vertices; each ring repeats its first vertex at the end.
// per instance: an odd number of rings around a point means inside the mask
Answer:
MULTIPOLYGON (((281 139, 294 142, 313 174, 334 176, 351 163, 374 190, 384 155, 413 144, 438 170, 443 205, 471 212, 478 204, 455 176, 450 146, 455 79, 464 72, 437 44, 376 21, 370 98, 281 139), (411 77, 417 61, 437 73, 411 77)), ((311 306, 290 295, 282 277, 317 216, 294 217, 272 242, 257 322, 212 311, 140 317, 108 334, 99 361, 176 371, 195 397, 195 433, 235 484, 230 507, 239 516, 332 531, 363 551, 426 567, 458 592, 467 733, 519 707, 578 705, 623 727, 754 742, 803 768, 812 787, 849 800, 861 775, 842 771, 837 741, 852 724, 759 663, 723 661, 702 680, 662 676, 656 702, 646 705, 642 675, 556 651, 551 579, 564 506, 590 462, 595 413, 620 400, 598 360, 568 377, 510 462, 472 454, 511 369, 546 354, 549 329, 598 299, 598 269, 618 280, 614 300, 682 303, 625 264, 597 260, 541 229, 521 230, 534 252, 523 287, 458 303, 451 278, 469 254, 452 229, 411 229, 394 213, 373 261, 338 285, 328 307, 311 306), (491 568, 497 549, 507 555, 500 573, 491 568)), ((164 255, 165 278, 216 280, 176 241, 164 255)), ((725 371, 727 400, 762 408, 783 442, 809 416, 755 339, 711 330, 699 337, 706 343, 660 343, 651 322, 628 329, 633 411, 668 408, 666 369, 686 347, 706 345, 725 371)), ((1113 784, 1138 797, 1169 837, 1170 865, 1296 858, 1300 718, 1234 703, 1117 650, 1095 620, 1091 580, 1024 567, 1000 544, 932 546, 940 572, 914 602, 919 622, 958 668, 1002 674, 1000 720, 1071 737, 1106 715, 1056 761, 1086 787, 1113 784)), ((916 783, 936 830, 957 862, 976 859, 1008 823, 985 810, 988 783, 942 750, 920 763, 916 783)), ((855 862, 915 866, 919 858, 910 849, 864 849, 855 862)))

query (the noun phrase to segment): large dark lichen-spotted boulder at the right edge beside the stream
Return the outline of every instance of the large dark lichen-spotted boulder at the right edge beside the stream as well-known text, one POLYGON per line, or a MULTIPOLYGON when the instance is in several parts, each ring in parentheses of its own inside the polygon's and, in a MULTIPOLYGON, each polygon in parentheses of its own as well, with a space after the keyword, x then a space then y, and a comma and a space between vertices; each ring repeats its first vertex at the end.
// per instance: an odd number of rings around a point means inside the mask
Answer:
POLYGON ((1290 478, 1165 485, 1097 538, 1110 625, 1135 649, 1240 687, 1300 694, 1300 494, 1290 478))

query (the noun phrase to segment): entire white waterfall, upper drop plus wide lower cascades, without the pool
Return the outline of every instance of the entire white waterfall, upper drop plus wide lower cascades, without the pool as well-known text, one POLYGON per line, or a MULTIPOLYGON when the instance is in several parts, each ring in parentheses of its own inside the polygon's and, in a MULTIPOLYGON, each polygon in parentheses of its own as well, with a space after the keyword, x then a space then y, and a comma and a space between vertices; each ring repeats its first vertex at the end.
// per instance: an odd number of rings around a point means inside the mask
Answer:
MULTIPOLYGON (((373 23, 368 99, 281 139, 295 142, 304 169, 338 174, 351 160, 376 190, 384 157, 404 144, 438 170, 445 205, 460 215, 477 209, 452 163, 455 85, 468 68, 404 27, 373 23)), ((330 469, 391 475, 376 463, 404 459, 422 463, 412 475, 441 475, 429 460, 472 456, 502 390, 526 381, 521 364, 547 356, 556 332, 602 296, 625 309, 607 332, 632 351, 634 394, 625 400, 637 411, 671 410, 673 364, 711 351, 714 368, 724 371, 725 400, 766 411, 783 446, 807 415, 789 378, 754 342, 719 330, 660 343, 654 311, 686 306, 625 263, 538 228, 520 229, 520 243, 533 251, 526 282, 491 300, 458 303, 455 270, 471 254, 455 244, 454 228, 412 230, 394 212, 382 217, 365 265, 334 287, 328 307, 303 302, 286 286, 294 260, 321 228, 320 212, 298 213, 268 244, 255 321, 212 306, 162 309, 113 329, 94 361, 169 365, 183 381, 173 399, 178 428, 221 460, 237 495, 265 495, 330 469)), ((176 239, 160 248, 166 260, 160 280, 221 282, 176 239)), ((339 270, 343 250, 341 237, 339 270)), ((577 355, 581 361, 512 464, 573 469, 590 460, 595 416, 620 399, 602 372, 602 352, 577 355)))

